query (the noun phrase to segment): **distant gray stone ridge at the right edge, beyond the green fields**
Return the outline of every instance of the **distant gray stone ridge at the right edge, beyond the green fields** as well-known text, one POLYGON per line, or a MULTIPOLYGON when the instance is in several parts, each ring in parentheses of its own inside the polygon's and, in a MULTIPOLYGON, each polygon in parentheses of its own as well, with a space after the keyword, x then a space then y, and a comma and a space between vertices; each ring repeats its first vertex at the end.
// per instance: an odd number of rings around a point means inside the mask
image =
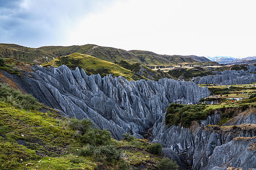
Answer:
POLYGON ((196 84, 250 84, 256 82, 255 66, 248 67, 247 71, 225 70, 221 72, 215 71, 216 75, 197 76, 192 81, 196 84))

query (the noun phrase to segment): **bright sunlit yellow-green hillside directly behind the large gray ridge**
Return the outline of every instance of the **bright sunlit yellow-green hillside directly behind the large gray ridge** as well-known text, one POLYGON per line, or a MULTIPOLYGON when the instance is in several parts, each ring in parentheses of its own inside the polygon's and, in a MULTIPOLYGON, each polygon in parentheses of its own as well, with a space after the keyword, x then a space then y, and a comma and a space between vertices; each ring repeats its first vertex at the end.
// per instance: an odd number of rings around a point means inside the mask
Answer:
POLYGON ((73 53, 65 57, 57 57, 50 62, 43 63, 42 66, 54 66, 58 67, 61 65, 67 65, 68 67, 75 69, 84 69, 86 74, 100 74, 105 76, 112 74, 114 76, 123 76, 129 80, 133 79, 133 72, 127 70, 115 63, 104 61, 96 57, 88 56, 86 54, 73 53))

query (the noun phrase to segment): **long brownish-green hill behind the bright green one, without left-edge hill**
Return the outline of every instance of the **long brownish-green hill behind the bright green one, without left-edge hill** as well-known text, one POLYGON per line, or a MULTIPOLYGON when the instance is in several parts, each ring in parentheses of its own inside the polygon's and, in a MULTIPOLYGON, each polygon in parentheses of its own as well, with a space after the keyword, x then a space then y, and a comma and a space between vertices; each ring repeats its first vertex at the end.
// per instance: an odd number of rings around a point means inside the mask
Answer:
MULTIPOLYGON (((123 49, 97 46, 92 44, 81 46, 43 46, 39 49, 49 53, 53 53, 56 56, 67 56, 76 52, 82 54, 89 54, 90 56, 104 59, 105 61, 110 61, 113 63, 120 62, 121 60, 126 60, 130 63, 138 62, 142 63, 143 65, 174 66, 180 64, 185 65, 189 63, 193 63, 194 65, 203 65, 203 63, 201 62, 196 62, 194 59, 184 56, 167 56, 142 50, 126 51, 123 49)), ((211 63, 213 65, 218 65, 216 62, 211 63)))

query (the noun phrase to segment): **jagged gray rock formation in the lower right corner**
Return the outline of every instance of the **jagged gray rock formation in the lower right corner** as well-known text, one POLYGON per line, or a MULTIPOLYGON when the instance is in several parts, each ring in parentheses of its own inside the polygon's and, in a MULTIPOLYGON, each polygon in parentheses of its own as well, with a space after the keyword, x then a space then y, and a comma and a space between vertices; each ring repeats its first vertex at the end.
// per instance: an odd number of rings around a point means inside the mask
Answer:
MULTIPOLYGON (((235 117, 234 120, 230 120, 229 125, 238 125, 240 122, 246 123, 247 127, 253 126, 254 124, 248 125, 248 123, 254 123, 253 120, 255 120, 256 115, 251 113, 254 111, 250 108, 247 109, 241 113, 244 116, 238 115, 241 118, 235 117)), ((156 121, 152 129, 152 138, 178 154, 185 154, 185 160, 192 166, 192 169, 221 169, 220 167, 223 167, 225 163, 229 167, 255 168, 255 163, 253 163, 256 162, 255 148, 254 150, 247 150, 249 144, 255 143, 253 140, 249 140, 250 142, 246 144, 242 142, 236 144, 237 146, 240 145, 238 146, 240 151, 244 150, 242 152, 244 155, 235 151, 236 145, 232 152, 229 149, 234 143, 234 138, 255 137, 256 129, 249 128, 249 130, 245 130, 242 128, 243 126, 236 126, 234 129, 225 131, 220 126, 207 126, 216 125, 218 121, 220 121, 220 114, 216 112, 206 120, 201 121, 201 124, 197 124, 195 129, 188 129, 180 126, 168 127, 164 125, 163 116, 156 121), (218 159, 223 156, 225 159, 218 163, 218 159), (246 159, 250 160, 250 162, 247 162, 246 159)))

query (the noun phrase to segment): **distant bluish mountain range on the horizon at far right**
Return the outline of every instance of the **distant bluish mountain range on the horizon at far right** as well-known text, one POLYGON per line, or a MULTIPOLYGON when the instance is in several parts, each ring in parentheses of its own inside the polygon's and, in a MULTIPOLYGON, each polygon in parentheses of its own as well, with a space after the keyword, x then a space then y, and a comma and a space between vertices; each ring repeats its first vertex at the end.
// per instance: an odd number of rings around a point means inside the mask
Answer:
POLYGON ((215 61, 220 64, 230 64, 230 65, 240 65, 240 64, 247 64, 247 65, 253 65, 255 63, 256 56, 254 57, 245 57, 245 58, 234 58, 234 57, 226 57, 226 56, 221 56, 221 57, 207 57, 210 59, 210 61, 215 61))

